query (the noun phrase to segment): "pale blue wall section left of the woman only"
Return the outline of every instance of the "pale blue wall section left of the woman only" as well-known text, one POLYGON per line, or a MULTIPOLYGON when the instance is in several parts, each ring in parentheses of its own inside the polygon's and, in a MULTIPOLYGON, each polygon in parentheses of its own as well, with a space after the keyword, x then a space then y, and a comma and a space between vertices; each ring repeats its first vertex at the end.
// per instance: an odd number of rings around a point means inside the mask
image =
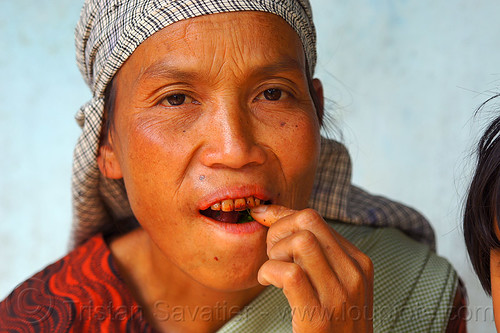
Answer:
POLYGON ((0 298, 67 251, 80 1, 0 0, 0 298))

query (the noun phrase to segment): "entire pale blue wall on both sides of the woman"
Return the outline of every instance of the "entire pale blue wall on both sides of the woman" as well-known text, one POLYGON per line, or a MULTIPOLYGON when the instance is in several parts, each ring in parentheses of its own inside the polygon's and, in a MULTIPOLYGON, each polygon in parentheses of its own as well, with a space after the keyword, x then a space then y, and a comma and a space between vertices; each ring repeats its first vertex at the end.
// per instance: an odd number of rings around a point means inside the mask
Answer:
MULTIPOLYGON (((354 162, 354 181, 432 222, 466 282, 469 329, 494 332, 460 209, 468 154, 500 91, 500 2, 312 0, 317 76, 354 162)), ((75 0, 0 0, 0 298, 66 252, 73 116, 89 97, 74 63, 75 0)))

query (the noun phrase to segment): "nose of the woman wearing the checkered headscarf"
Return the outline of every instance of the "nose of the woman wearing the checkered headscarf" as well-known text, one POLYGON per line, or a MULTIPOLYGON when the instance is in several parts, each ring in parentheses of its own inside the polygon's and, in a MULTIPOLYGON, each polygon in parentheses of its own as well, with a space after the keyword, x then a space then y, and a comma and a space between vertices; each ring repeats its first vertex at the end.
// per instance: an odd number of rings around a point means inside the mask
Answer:
POLYGON ((250 111, 235 104, 217 109, 207 126, 202 163, 231 169, 263 164, 266 161, 265 142, 256 137, 262 128, 256 127, 259 123, 250 111))

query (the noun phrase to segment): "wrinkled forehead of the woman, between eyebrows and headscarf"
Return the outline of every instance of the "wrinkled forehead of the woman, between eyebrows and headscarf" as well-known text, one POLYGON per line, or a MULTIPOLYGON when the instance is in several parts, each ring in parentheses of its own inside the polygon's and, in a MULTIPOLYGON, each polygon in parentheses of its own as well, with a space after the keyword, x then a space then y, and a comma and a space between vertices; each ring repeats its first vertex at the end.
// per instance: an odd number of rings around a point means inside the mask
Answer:
POLYGON ((169 72, 203 75, 206 70, 224 67, 232 71, 307 70, 295 30, 279 16, 263 12, 221 13, 179 21, 143 42, 124 67, 146 77, 169 72))

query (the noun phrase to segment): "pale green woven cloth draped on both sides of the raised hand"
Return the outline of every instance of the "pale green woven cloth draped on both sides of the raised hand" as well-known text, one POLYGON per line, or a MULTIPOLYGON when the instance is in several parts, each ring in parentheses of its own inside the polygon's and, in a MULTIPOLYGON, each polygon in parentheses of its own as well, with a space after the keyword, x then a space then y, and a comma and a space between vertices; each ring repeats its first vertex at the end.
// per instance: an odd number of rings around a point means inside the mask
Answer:
MULTIPOLYGON (((375 333, 445 331, 458 285, 448 261, 396 229, 329 223, 373 262, 375 333)), ((291 311, 282 290, 270 286, 217 332, 292 332, 291 311)), ((295 311, 306 319, 312 314, 295 311)), ((359 315, 347 307, 342 311, 359 315)))

